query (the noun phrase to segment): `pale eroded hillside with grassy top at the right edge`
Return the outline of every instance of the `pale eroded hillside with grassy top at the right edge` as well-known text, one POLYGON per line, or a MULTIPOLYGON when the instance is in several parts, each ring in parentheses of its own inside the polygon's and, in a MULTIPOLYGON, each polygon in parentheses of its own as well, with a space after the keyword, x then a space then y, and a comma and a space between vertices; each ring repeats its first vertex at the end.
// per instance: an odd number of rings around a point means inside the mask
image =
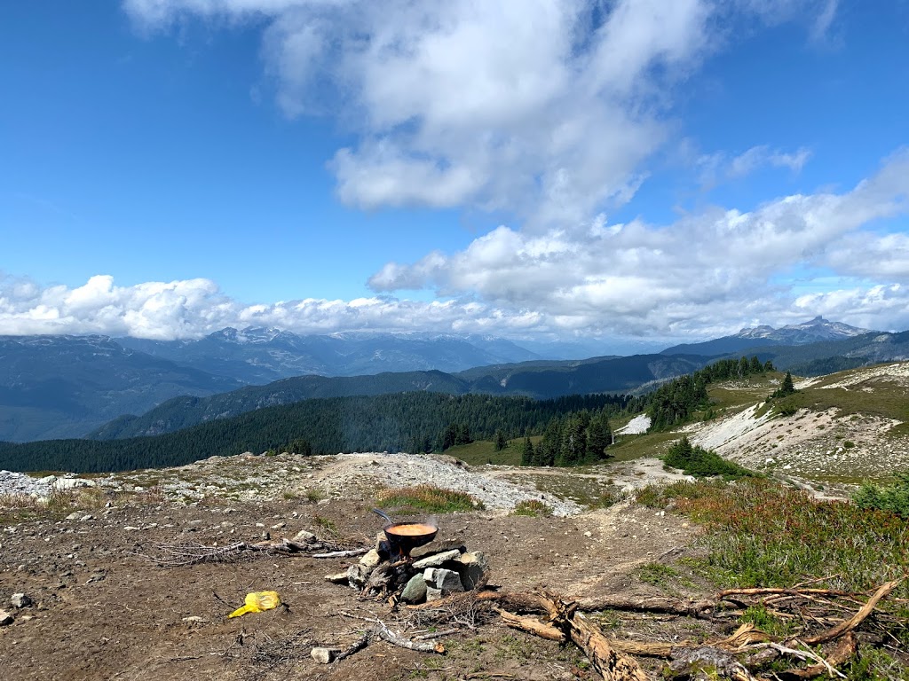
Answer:
POLYGON ((724 384, 726 413, 684 430, 726 459, 821 485, 909 469, 909 362, 796 380, 795 387, 795 395, 768 403, 754 400, 764 385, 724 384))

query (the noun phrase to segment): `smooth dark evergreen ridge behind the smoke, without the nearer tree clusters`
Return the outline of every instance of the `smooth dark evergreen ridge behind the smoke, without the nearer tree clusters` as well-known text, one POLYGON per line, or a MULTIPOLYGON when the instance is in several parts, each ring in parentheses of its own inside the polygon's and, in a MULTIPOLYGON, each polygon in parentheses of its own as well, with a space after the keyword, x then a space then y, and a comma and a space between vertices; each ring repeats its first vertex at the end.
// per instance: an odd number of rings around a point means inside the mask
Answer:
POLYGON ((292 446, 304 453, 430 451, 442 449, 445 431, 452 426, 468 438, 491 439, 500 429, 516 437, 540 432, 550 419, 574 411, 618 412, 629 400, 615 395, 532 400, 425 392, 305 400, 156 437, 0 443, 0 469, 160 468, 292 446))

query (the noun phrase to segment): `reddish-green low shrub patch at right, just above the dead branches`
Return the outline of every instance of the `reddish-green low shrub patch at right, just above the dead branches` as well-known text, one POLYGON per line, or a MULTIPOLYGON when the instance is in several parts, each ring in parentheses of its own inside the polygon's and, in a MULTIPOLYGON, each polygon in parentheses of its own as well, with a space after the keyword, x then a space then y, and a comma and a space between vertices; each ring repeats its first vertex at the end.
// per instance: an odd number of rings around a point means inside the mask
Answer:
MULTIPOLYGON (((821 501, 769 479, 678 482, 638 500, 704 523, 704 570, 718 584, 791 587, 805 580, 864 592, 909 573, 909 522, 886 511, 821 501)), ((909 597, 905 582, 894 592, 909 597)), ((909 613, 905 613, 909 615, 909 613)))

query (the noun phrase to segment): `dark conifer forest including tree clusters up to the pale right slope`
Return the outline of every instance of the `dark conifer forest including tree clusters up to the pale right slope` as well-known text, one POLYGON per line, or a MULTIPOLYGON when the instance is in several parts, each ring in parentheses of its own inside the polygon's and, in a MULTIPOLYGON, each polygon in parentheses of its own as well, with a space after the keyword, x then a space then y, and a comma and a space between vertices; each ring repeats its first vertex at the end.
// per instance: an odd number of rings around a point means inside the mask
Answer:
POLYGON ((668 429, 709 409, 706 385, 772 370, 756 357, 720 360, 648 395, 592 394, 534 400, 408 392, 303 400, 154 437, 0 443, 0 468, 107 471, 178 466, 244 451, 443 451, 471 439, 543 435, 527 462, 575 465, 604 458, 609 418, 644 410, 668 429))

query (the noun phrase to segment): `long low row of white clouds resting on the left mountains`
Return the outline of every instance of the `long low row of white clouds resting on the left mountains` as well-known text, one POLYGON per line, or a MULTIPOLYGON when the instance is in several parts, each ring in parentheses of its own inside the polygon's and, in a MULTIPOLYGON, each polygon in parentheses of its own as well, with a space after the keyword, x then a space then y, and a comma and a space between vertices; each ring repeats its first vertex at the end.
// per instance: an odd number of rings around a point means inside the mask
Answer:
POLYGON ((4 335, 100 333, 172 340, 198 338, 225 326, 275 326, 304 334, 369 329, 507 335, 549 330, 549 322, 535 311, 497 310, 470 300, 423 302, 375 296, 243 305, 205 279, 117 286, 113 277, 97 275, 70 288, 0 277, 0 334, 4 335))

